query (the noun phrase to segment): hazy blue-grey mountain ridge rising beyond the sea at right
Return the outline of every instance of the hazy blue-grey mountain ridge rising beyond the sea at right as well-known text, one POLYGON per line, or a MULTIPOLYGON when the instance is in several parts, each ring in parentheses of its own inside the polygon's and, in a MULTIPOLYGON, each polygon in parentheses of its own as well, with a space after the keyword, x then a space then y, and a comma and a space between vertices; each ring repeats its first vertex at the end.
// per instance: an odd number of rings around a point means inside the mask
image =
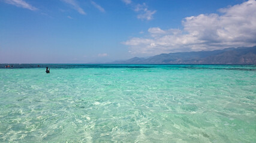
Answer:
POLYGON ((214 51, 175 52, 149 58, 134 57, 112 64, 256 64, 256 46, 214 51))

